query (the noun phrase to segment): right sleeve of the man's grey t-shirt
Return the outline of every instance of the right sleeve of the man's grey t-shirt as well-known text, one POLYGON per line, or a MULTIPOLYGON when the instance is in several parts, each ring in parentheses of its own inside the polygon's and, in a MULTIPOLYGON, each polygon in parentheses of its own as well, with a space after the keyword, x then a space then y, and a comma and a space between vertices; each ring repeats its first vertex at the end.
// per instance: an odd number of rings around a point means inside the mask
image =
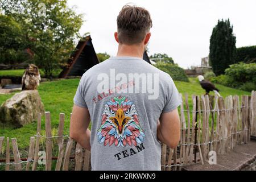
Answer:
POLYGON ((179 107, 182 103, 180 94, 174 84, 174 81, 170 77, 169 80, 167 81, 167 93, 166 93, 166 104, 164 105, 163 108, 163 113, 168 113, 172 110, 175 110, 177 107, 179 107))

